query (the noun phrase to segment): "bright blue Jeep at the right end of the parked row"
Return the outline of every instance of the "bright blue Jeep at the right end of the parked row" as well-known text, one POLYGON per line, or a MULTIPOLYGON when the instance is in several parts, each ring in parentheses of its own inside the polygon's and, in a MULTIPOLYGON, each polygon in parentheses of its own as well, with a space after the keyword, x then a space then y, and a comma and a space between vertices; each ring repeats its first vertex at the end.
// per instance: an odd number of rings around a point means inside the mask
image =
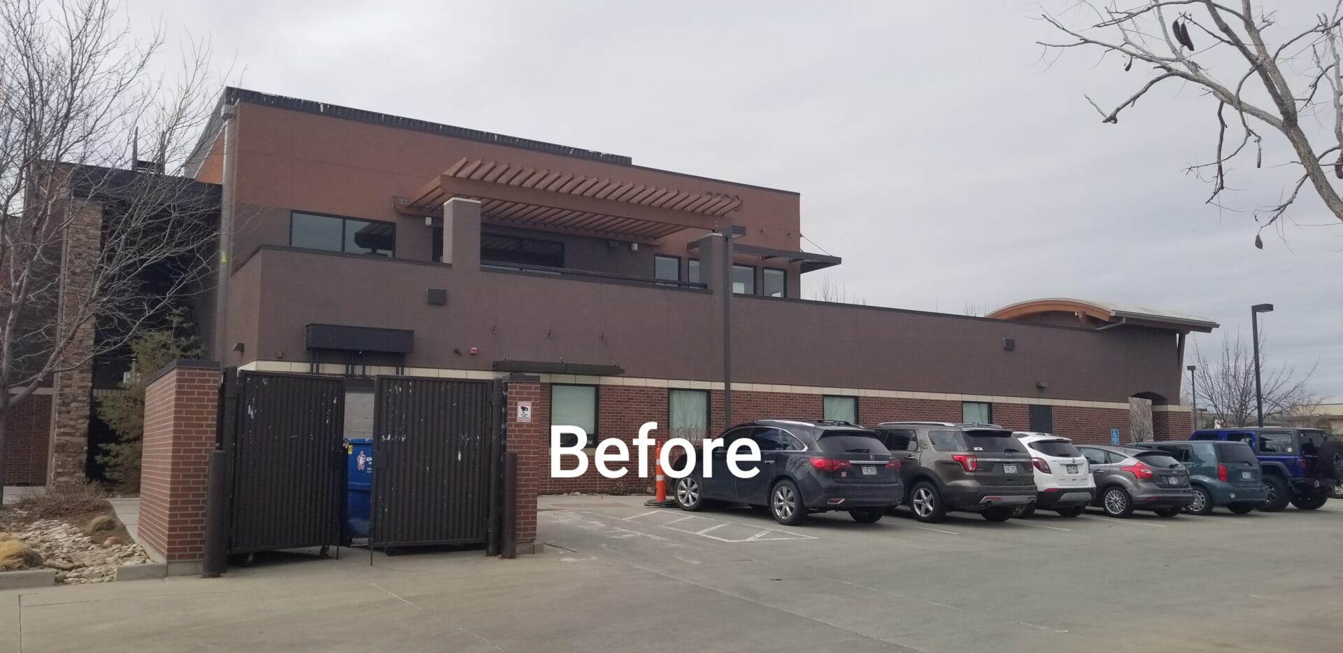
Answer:
POLYGON ((1313 511, 1330 498, 1343 478, 1343 439, 1319 429, 1203 429, 1189 439, 1245 442, 1254 450, 1264 473, 1268 500, 1261 511, 1277 512, 1287 504, 1313 511))

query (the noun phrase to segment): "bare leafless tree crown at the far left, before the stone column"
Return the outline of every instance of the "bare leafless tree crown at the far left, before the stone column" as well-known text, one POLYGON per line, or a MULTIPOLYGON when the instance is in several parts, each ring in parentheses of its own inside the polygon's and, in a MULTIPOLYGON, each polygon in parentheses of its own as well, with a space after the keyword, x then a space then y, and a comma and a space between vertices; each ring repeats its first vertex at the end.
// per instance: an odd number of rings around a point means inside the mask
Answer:
POLYGON ((208 48, 158 73, 164 35, 134 39, 115 13, 0 0, 0 458, 9 408, 122 348, 210 270, 210 202, 173 175, 210 114, 208 48))

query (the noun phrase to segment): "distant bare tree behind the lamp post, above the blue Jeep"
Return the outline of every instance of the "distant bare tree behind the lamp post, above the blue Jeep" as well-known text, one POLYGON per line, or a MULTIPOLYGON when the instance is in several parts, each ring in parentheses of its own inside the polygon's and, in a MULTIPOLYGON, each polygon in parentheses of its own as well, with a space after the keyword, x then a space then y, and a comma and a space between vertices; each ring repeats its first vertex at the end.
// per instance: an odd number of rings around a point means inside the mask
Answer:
MULTIPOLYGON (((1253 343, 1241 341, 1240 333, 1234 337, 1222 335, 1221 349, 1211 360, 1194 345, 1197 399, 1198 406, 1207 410, 1209 419, 1221 419, 1226 426, 1257 423, 1252 348, 1253 343)), ((1315 403, 1307 391, 1313 368, 1299 375, 1292 365, 1268 364, 1265 351, 1264 337, 1260 336, 1265 422, 1289 417, 1296 406, 1315 403)))

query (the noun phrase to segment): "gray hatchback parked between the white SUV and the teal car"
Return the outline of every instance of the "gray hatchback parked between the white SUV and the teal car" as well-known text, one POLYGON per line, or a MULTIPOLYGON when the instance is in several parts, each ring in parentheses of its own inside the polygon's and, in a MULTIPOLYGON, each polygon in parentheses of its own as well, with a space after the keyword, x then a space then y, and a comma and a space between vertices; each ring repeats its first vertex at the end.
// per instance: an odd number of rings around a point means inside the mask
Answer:
POLYGON ((1152 511, 1174 517, 1194 503, 1189 470, 1166 451, 1127 446, 1077 445, 1096 477, 1096 501, 1105 515, 1127 517, 1152 511))

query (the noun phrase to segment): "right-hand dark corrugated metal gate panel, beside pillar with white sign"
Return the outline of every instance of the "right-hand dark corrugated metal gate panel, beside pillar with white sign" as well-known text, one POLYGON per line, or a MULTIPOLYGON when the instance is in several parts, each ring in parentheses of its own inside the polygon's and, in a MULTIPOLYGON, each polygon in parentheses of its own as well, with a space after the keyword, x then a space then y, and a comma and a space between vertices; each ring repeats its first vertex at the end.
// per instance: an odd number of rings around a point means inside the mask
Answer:
POLYGON ((377 378, 369 546, 486 541, 501 395, 497 382, 377 378))

